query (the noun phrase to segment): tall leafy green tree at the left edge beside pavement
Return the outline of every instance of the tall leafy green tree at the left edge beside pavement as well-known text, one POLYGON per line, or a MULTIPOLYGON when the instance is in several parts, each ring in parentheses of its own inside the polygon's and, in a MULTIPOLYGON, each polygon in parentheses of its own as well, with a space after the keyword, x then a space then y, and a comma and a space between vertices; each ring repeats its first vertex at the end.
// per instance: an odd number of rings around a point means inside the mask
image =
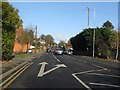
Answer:
POLYGON ((22 23, 15 9, 8 2, 2 2, 2 59, 9 60, 13 52, 15 30, 22 23))

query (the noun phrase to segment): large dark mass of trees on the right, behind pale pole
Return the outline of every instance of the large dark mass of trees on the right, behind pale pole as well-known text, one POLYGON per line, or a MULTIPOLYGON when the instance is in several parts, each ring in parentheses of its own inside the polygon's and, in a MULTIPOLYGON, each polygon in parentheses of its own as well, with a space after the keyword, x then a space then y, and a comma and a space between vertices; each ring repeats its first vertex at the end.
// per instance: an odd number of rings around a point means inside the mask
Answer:
MULTIPOLYGON (((95 28, 95 55, 112 56, 111 52, 116 49, 117 39, 114 26, 111 22, 105 22, 102 27, 95 28)), ((92 52, 93 48, 93 30, 94 28, 84 29, 81 33, 70 39, 75 51, 92 52)), ((91 55, 91 54, 90 54, 91 55)))

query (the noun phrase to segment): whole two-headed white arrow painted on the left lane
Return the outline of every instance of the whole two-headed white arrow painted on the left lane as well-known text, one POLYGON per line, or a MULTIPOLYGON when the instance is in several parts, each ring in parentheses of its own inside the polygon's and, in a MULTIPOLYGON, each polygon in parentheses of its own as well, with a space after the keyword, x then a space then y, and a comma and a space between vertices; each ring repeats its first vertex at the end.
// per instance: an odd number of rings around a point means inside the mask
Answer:
POLYGON ((40 72, 38 73, 38 77, 42 77, 43 75, 46 75, 46 74, 48 74, 48 73, 50 73, 50 72, 52 72, 52 71, 54 71, 54 70, 56 70, 56 69, 58 69, 60 67, 67 67, 64 64, 57 64, 57 65, 55 65, 56 67, 44 72, 45 65, 48 64, 48 63, 43 62, 43 63, 40 63, 40 64, 42 64, 42 66, 40 68, 40 72))

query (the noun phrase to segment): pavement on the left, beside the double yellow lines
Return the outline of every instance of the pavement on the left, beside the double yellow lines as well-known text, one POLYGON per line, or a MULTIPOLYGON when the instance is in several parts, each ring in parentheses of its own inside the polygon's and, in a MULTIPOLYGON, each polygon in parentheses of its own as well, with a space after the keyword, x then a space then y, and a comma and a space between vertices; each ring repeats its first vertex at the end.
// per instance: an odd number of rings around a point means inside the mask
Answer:
POLYGON ((0 81, 9 76, 14 71, 17 71, 19 68, 26 65, 28 62, 31 62, 34 58, 38 58, 44 54, 44 51, 32 53, 25 57, 15 57, 10 61, 0 62, 0 81))

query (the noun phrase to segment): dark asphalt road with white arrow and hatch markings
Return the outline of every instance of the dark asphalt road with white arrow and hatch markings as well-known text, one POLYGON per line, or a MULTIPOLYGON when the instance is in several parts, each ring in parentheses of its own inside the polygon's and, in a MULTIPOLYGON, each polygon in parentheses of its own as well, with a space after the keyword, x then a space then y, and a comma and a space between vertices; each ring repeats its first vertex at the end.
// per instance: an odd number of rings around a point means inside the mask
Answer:
POLYGON ((118 62, 83 56, 45 53, 7 88, 97 88, 120 89, 118 62))

